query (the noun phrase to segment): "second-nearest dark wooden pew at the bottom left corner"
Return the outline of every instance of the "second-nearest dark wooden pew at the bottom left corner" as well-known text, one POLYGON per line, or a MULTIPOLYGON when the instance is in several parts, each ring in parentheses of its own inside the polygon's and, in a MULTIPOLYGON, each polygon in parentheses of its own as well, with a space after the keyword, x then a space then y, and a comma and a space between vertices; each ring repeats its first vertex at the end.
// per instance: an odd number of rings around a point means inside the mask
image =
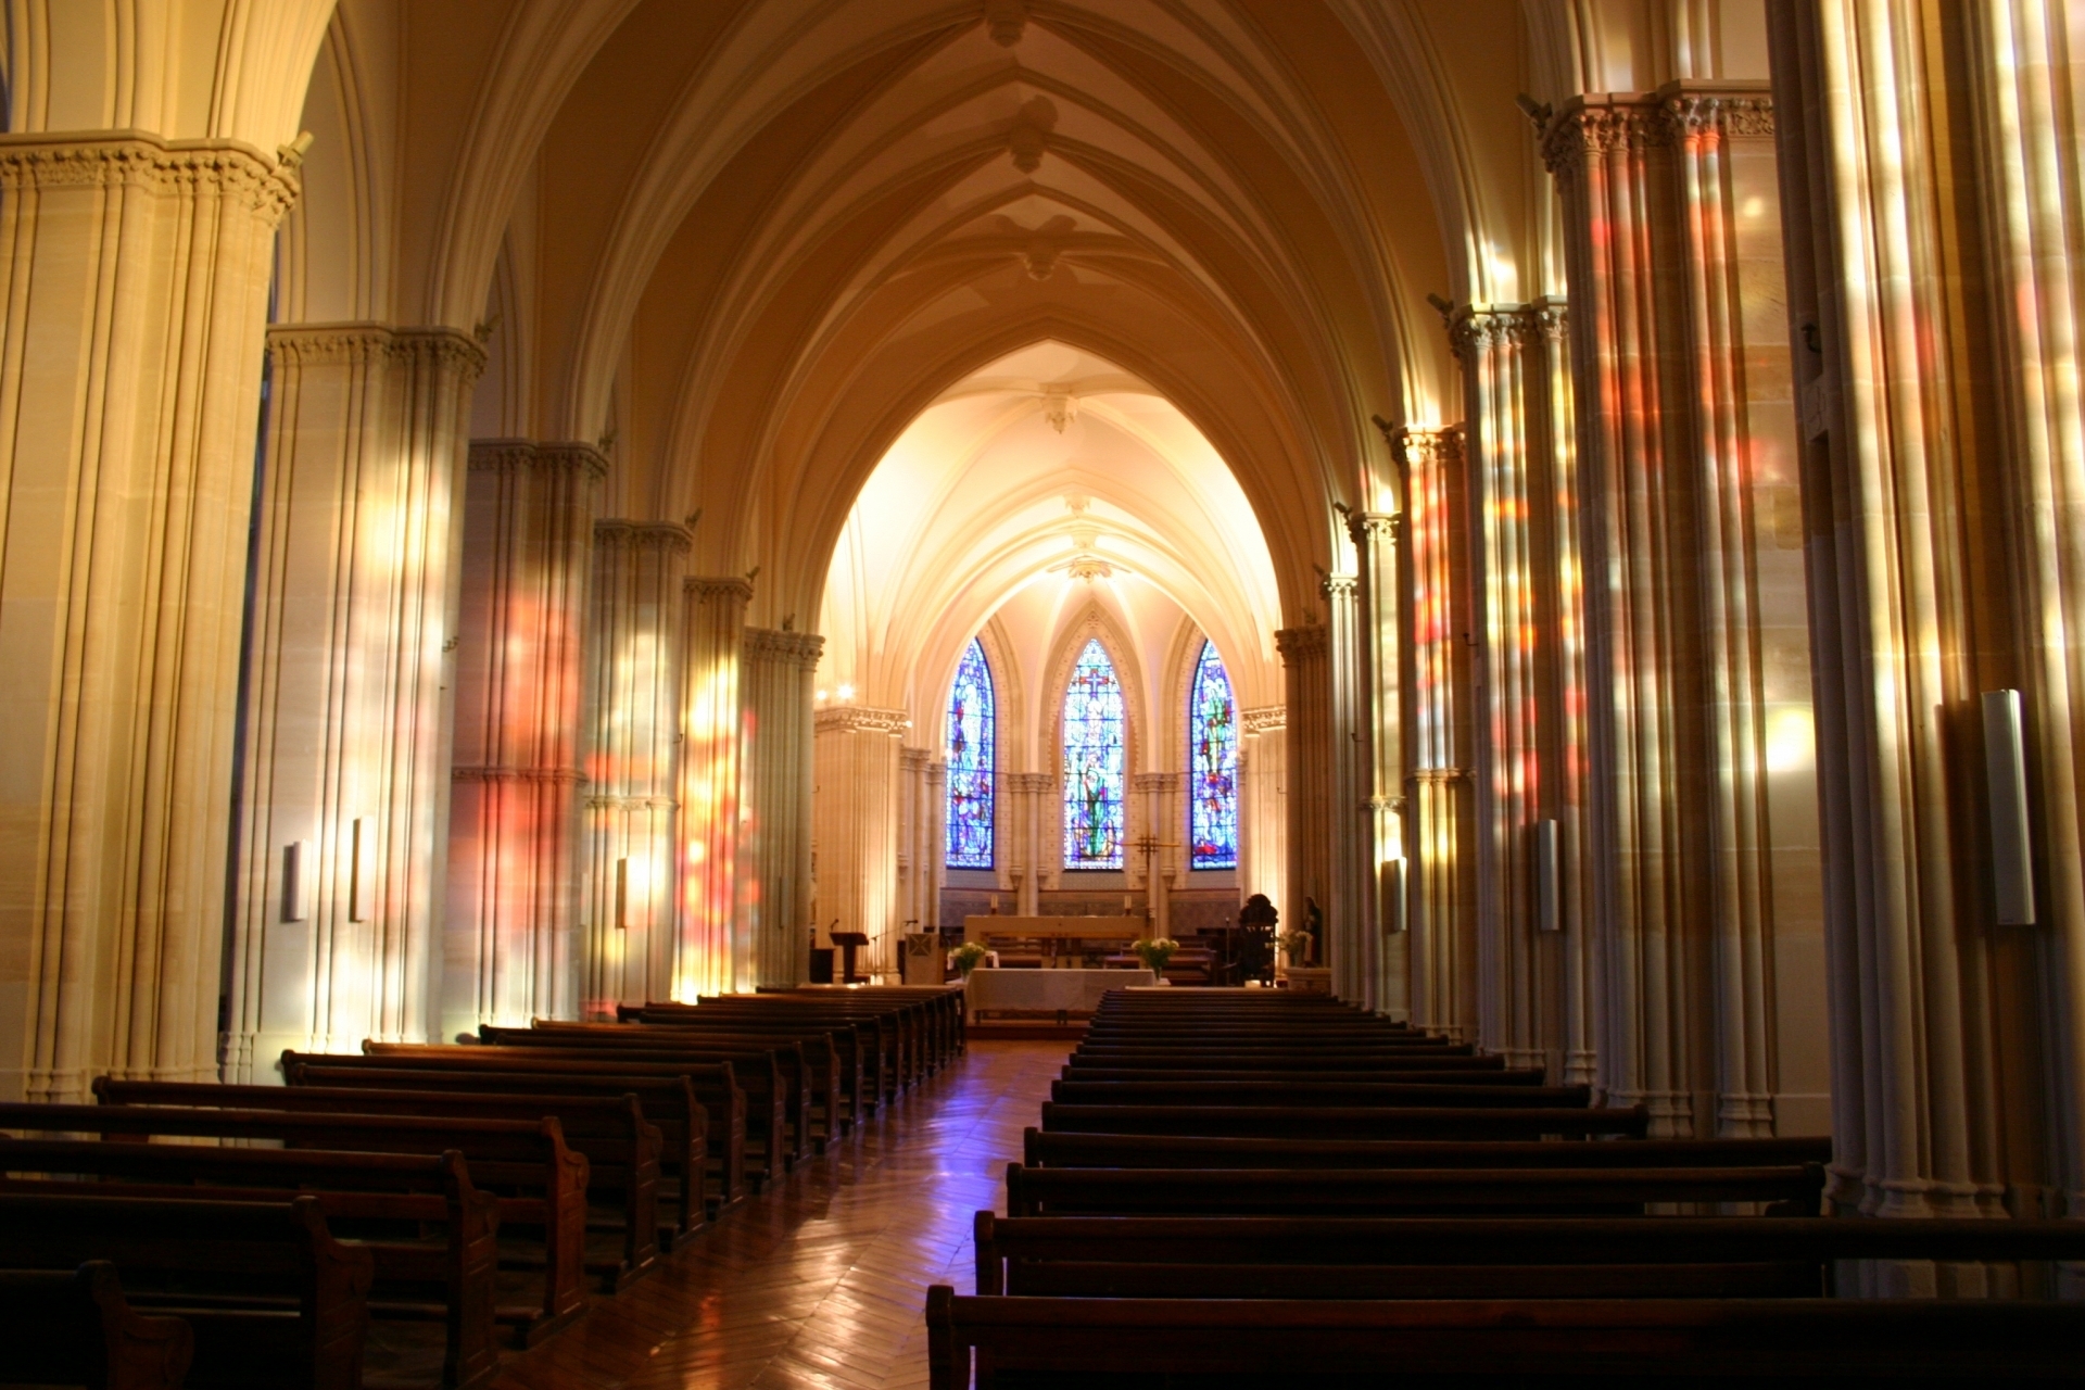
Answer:
POLYGON ((169 1202, 0 1192, 0 1267, 111 1261, 131 1307, 194 1336, 192 1390, 361 1390, 373 1257, 315 1196, 169 1202))

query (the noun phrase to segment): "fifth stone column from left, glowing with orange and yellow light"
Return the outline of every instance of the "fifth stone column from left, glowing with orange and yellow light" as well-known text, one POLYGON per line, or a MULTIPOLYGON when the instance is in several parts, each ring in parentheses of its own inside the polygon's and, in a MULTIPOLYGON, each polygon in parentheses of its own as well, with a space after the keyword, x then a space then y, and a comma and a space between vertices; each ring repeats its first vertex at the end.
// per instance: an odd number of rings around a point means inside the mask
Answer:
POLYGON ((742 644, 753 586, 688 577, 680 642, 680 925, 673 998, 753 990, 753 942, 738 921, 742 644))

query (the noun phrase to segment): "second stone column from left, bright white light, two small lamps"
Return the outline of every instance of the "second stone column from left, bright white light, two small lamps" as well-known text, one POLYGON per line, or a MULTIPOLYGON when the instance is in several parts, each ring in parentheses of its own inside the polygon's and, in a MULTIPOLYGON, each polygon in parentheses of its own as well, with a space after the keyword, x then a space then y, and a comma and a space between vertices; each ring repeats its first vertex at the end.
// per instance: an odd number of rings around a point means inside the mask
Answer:
POLYGON ((425 1042, 448 848, 448 665, 480 346, 269 331, 225 1079, 425 1042))

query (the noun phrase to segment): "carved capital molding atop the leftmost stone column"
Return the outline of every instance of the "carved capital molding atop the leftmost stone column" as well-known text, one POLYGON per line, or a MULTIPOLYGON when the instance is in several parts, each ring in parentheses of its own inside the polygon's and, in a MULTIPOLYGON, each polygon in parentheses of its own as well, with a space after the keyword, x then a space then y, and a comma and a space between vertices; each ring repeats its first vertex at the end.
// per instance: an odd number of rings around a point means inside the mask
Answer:
POLYGON ((115 185, 154 194, 219 188, 269 225, 302 192, 294 165, 269 165, 259 150, 231 140, 161 140, 148 131, 108 131, 100 140, 0 135, 0 190, 115 185))

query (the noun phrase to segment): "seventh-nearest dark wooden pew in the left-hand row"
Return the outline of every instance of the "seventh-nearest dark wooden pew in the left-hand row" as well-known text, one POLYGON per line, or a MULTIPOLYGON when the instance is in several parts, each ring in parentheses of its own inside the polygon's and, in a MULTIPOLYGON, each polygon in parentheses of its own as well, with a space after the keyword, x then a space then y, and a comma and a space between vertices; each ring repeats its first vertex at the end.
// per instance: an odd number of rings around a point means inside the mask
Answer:
MULTIPOLYGON (((655 1079, 688 1077, 696 1098, 715 1111, 732 1102, 721 1073, 713 1067, 730 1065, 736 1102, 744 1104, 744 1186, 759 1192, 769 1180, 788 1171, 788 1119, 784 1117, 786 1088, 780 1086, 780 1071, 771 1054, 732 1054, 721 1059, 680 1057, 671 1061, 644 1061, 636 1057, 607 1057, 598 1048, 494 1048, 482 1044, 438 1044, 438 1042, 365 1042, 365 1059, 371 1067, 409 1067, 415 1071, 448 1073, 542 1073, 542 1075, 648 1075, 655 1079), (742 1061, 734 1061, 734 1057, 742 1061)), ((298 1054, 315 1057, 315 1054, 298 1054)), ((334 1059, 338 1061, 338 1059, 334 1059)), ((736 1104, 734 1102, 734 1104, 736 1104)))

